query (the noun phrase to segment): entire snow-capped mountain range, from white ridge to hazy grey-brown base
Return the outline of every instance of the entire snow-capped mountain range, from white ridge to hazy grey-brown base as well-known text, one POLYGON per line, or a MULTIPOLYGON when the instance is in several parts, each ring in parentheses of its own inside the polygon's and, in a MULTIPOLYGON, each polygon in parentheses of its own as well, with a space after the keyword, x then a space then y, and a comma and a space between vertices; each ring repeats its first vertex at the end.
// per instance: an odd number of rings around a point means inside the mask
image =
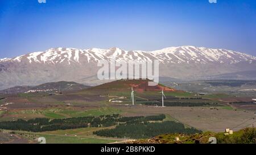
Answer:
POLYGON ((256 70, 256 57, 226 49, 170 47, 157 51, 51 48, 14 58, 0 59, 0 89, 16 85, 74 81, 96 85, 99 60, 159 60, 162 77, 199 79, 218 74, 256 70))

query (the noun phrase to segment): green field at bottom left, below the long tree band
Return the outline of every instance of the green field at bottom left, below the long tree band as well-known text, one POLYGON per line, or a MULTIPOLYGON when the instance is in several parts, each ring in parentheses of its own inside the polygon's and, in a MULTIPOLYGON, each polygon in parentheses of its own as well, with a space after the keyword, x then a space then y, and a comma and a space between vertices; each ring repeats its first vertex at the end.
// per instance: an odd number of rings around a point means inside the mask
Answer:
POLYGON ((79 128, 39 133, 5 130, 5 133, 0 132, 0 143, 39 143, 37 140, 39 137, 46 138, 47 144, 106 144, 123 141, 123 139, 98 137, 93 135, 92 132, 98 129, 79 128))

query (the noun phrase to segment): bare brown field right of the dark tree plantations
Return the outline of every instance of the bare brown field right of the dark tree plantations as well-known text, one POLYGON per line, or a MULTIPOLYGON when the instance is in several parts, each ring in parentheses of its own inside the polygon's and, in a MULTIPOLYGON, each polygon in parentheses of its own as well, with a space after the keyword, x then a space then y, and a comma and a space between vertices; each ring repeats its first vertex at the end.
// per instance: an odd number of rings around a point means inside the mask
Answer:
POLYGON ((155 107, 115 105, 125 116, 166 114, 189 127, 202 131, 221 132, 225 128, 234 131, 256 125, 254 111, 230 110, 222 107, 155 107))

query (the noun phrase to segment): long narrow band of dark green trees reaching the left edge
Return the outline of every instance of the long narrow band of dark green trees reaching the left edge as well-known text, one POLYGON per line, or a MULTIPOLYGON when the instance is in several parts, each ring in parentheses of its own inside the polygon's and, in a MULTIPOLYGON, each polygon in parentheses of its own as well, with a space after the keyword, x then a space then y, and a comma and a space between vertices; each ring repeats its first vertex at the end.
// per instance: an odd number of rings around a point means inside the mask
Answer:
POLYGON ((158 116, 138 116, 122 118, 119 114, 101 115, 97 117, 79 117, 53 119, 35 118, 30 120, 18 119, 11 122, 0 122, 0 129, 22 130, 31 132, 55 131, 58 129, 75 129, 85 127, 110 127, 123 123, 143 123, 148 121, 163 120, 165 115, 158 116))

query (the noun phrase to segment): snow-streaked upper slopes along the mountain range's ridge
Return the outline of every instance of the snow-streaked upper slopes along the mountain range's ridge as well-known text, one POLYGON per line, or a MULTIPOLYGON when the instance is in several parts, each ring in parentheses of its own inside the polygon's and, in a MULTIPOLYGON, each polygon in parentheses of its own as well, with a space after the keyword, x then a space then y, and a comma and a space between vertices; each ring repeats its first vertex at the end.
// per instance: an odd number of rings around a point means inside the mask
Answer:
POLYGON ((246 55, 245 53, 230 51, 226 49, 209 49, 204 47, 170 47, 158 51, 125 51, 120 48, 110 49, 75 49, 75 48, 51 48, 45 52, 34 52, 28 55, 22 55, 15 58, 3 58, 0 62, 21 62, 28 61, 32 63, 61 64, 61 63, 80 63, 86 60, 95 62, 99 60, 109 60, 110 57, 116 60, 141 60, 148 61, 158 59, 163 64, 182 64, 199 63, 206 64, 217 62, 221 64, 234 64, 242 61, 253 62, 256 57, 246 55))

